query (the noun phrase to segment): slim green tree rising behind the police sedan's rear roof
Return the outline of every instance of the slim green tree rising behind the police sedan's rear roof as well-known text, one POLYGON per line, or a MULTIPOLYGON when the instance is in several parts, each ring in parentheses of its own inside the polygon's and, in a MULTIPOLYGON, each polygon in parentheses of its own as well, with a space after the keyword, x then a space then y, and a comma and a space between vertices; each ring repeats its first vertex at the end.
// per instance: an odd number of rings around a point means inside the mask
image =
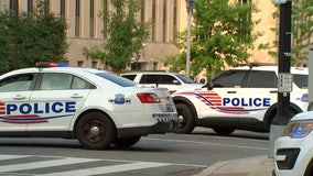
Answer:
POLYGON ((90 59, 99 59, 120 73, 131 63, 131 58, 141 50, 149 37, 149 23, 138 22, 137 12, 142 0, 110 0, 114 7, 108 11, 106 0, 102 1, 101 18, 108 22, 109 37, 99 46, 84 47, 83 54, 90 59))

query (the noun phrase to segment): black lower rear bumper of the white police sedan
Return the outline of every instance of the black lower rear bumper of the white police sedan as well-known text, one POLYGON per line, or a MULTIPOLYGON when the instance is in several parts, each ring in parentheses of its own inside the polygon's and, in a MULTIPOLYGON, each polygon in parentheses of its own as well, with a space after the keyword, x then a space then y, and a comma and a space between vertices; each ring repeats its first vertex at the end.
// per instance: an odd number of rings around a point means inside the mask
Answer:
POLYGON ((148 134, 164 134, 174 132, 174 127, 176 121, 162 122, 159 121, 152 127, 139 127, 139 128, 125 128, 118 129, 118 138, 128 138, 128 136, 138 136, 138 135, 148 135, 148 134))

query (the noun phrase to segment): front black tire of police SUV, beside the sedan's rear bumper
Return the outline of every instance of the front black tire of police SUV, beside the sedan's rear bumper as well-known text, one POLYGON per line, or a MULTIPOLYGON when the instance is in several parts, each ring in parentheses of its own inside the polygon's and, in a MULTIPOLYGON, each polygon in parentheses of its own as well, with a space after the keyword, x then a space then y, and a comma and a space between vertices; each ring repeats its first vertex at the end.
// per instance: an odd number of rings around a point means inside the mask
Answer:
POLYGON ((196 119, 192 113, 191 108, 185 103, 176 105, 179 123, 175 125, 175 133, 191 133, 195 129, 196 119))

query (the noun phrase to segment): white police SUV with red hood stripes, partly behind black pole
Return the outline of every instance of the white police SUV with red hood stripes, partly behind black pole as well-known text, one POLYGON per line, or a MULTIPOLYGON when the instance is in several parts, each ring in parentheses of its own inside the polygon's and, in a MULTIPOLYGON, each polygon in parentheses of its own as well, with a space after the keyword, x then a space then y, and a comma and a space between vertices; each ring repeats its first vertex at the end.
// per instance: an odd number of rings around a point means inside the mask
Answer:
MULTIPOLYGON (((291 68, 291 114, 306 110, 307 68, 291 68)), ((212 128, 219 134, 235 130, 267 132, 277 113, 278 66, 250 64, 229 69, 198 90, 172 95, 179 113, 176 132, 195 127, 212 128)))

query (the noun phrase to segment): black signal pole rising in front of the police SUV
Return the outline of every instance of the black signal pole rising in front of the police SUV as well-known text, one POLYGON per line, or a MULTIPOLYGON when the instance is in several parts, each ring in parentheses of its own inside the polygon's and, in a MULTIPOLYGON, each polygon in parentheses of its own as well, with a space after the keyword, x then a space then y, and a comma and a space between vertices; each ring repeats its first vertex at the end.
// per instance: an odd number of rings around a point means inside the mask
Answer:
MULTIPOLYGON (((290 74, 291 65, 291 12, 292 1, 280 4, 279 21, 279 74, 290 74)), ((291 119, 290 117, 290 94, 278 92, 277 116, 272 120, 270 128, 269 157, 274 155, 274 141, 281 135, 284 127, 291 119)))

